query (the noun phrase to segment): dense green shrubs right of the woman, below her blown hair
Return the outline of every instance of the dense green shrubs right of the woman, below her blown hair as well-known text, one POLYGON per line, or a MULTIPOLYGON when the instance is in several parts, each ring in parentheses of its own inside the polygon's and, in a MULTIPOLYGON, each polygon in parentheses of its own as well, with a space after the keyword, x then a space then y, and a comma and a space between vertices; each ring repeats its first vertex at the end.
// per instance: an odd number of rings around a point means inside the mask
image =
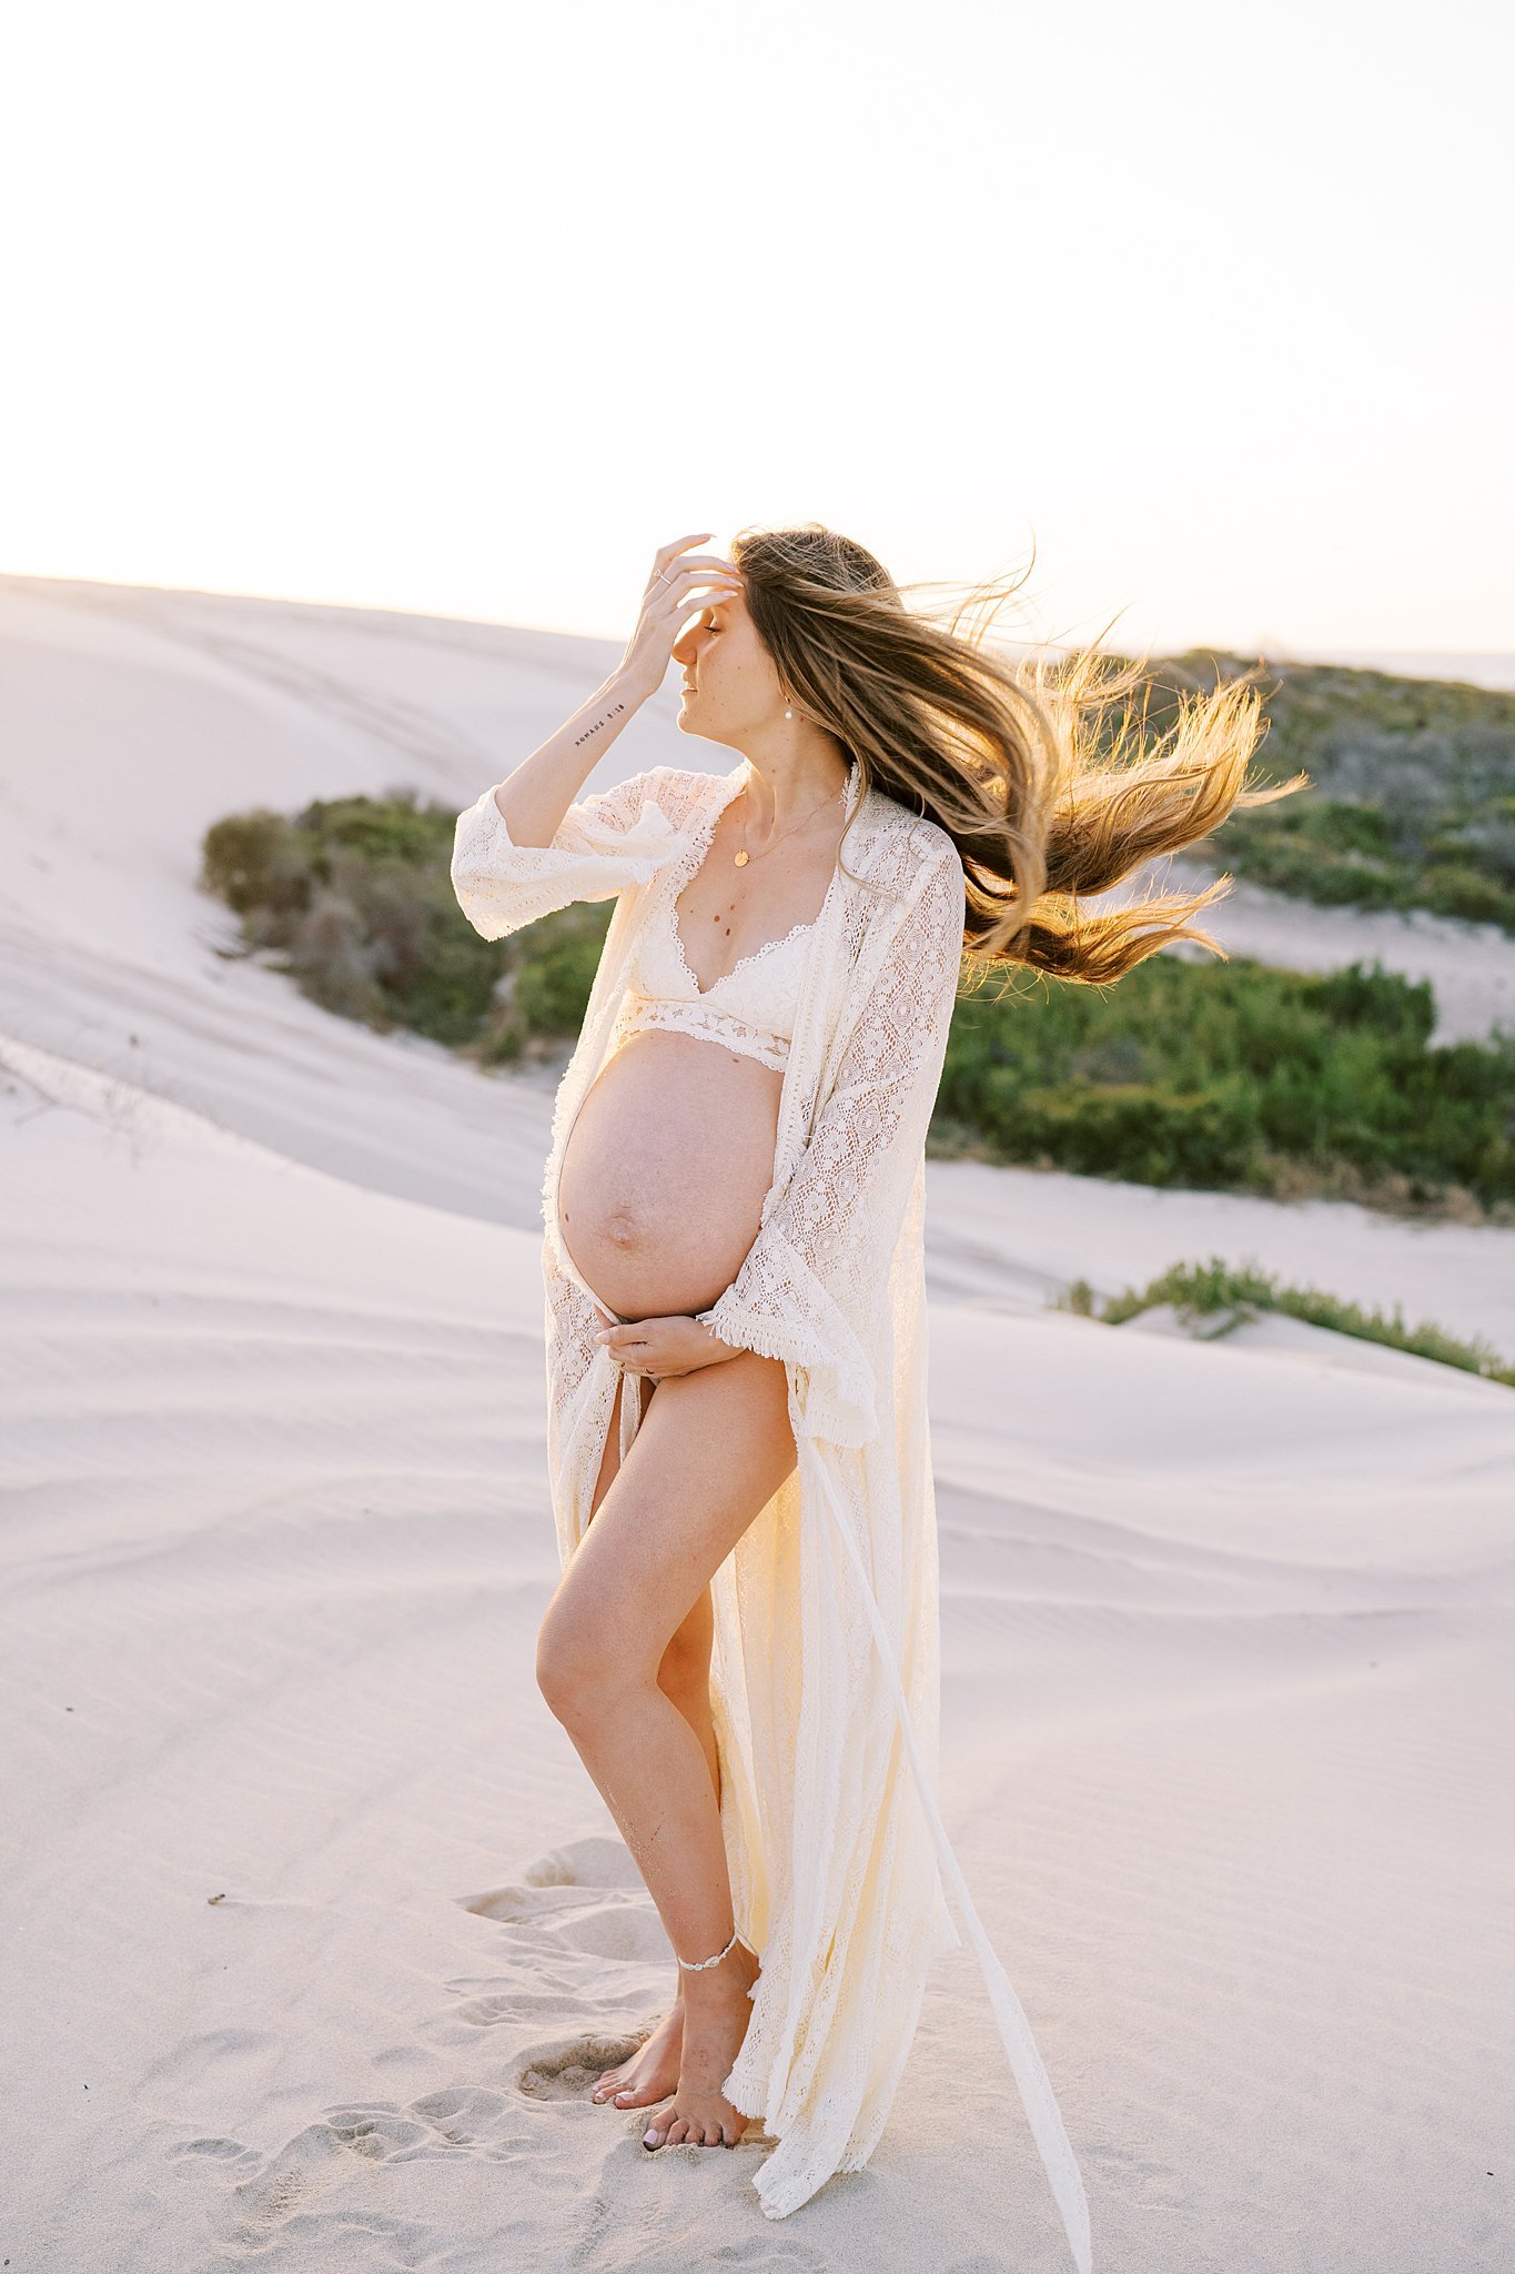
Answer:
POLYGON ((1161 953, 1111 989, 959 998, 934 1151, 1395 1205, 1515 1203, 1515 1037, 1433 1048, 1429 980, 1161 953))

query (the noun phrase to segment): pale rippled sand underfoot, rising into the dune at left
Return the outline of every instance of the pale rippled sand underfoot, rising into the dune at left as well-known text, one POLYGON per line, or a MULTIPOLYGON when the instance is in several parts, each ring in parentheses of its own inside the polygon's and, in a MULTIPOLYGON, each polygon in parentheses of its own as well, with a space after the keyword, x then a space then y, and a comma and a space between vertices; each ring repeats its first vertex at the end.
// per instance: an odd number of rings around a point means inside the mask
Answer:
MULTIPOLYGON (((16 2274, 1068 2263, 968 1951, 872 2167, 788 2222, 756 2128, 650 2158, 588 2106, 672 1960, 531 1676, 550 1082, 316 1012, 193 887, 250 803, 461 807, 609 662, 0 587, 16 2274)), ((690 762, 670 712, 616 771, 690 762)), ((1515 1355, 1515 1233, 929 1198, 943 1815, 1095 2263, 1504 2274, 1515 1394, 1043 1303, 1220 1251, 1515 1355)))

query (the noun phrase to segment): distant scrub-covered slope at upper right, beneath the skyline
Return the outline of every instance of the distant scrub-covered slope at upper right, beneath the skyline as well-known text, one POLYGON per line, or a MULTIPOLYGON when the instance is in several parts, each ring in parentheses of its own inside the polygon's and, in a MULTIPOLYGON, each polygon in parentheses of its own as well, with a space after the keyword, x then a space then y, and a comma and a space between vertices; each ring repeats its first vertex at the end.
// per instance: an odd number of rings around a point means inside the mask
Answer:
POLYGON ((1179 691, 1247 671, 1267 719, 1254 771, 1311 787, 1231 814, 1208 862, 1322 907, 1424 907, 1515 935, 1515 694, 1190 650, 1147 666, 1140 716, 1165 730, 1179 691))

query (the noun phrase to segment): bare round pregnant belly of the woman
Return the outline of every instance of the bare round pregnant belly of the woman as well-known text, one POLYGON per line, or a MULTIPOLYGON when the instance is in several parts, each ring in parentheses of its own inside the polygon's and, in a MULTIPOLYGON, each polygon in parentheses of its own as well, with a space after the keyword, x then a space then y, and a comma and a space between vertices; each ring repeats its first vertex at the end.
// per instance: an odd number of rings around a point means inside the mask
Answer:
POLYGON ((631 1035, 579 1105, 559 1233, 609 1310, 709 1310, 740 1271, 772 1185, 784 1073, 697 1035, 631 1035))

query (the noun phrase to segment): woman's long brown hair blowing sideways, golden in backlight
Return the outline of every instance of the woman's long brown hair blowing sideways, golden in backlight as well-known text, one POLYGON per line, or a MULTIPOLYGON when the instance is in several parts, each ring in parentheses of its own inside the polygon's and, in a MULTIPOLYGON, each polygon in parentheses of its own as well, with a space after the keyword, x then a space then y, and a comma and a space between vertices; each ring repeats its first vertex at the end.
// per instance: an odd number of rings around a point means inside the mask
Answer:
POLYGON ((872 553, 820 523, 747 528, 731 559, 802 714, 856 760, 865 789, 924 814, 956 844, 970 966, 1104 985, 1177 939, 1224 960, 1190 919, 1229 891, 1229 873, 1199 894, 1083 903, 1154 855, 1208 837, 1233 810, 1308 787, 1308 773, 1245 787, 1265 735, 1256 673, 1179 689, 1177 723, 1147 737, 1147 655, 1120 662, 1097 641, 1061 659, 986 646, 1018 580, 968 587, 949 612, 906 607, 906 591, 940 587, 897 587, 872 553), (1140 698, 1140 723, 1129 698, 1140 698))

